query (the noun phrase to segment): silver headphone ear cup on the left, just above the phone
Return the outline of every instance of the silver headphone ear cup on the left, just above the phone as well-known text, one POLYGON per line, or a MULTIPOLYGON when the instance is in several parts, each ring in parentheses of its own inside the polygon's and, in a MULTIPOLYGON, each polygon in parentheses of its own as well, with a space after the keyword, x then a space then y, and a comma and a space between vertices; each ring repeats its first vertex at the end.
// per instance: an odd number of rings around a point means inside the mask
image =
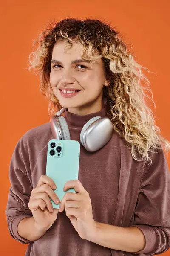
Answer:
POLYGON ((57 140, 70 140, 70 132, 65 118, 60 116, 51 117, 51 131, 57 140))

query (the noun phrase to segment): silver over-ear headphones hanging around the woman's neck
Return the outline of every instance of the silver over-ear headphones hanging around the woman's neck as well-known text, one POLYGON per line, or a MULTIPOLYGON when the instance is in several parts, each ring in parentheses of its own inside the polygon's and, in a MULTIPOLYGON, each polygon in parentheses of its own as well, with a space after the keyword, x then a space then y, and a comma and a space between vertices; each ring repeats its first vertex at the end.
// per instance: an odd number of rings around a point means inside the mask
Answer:
MULTIPOLYGON (((62 115, 62 108, 51 117, 51 131, 55 139, 71 140, 68 124, 62 115)), ((82 128, 80 142, 87 151, 94 152, 102 148, 111 139, 113 125, 108 117, 96 116, 90 119, 82 128)))

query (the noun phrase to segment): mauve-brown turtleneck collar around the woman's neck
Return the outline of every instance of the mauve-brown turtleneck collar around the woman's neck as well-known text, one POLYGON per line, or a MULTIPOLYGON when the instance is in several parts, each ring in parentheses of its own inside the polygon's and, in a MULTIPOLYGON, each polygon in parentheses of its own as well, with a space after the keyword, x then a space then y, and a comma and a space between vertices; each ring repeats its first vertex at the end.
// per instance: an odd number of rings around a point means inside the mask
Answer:
POLYGON ((70 128, 82 128, 86 122, 88 122, 91 118, 95 116, 101 116, 101 117, 107 117, 105 108, 102 108, 101 111, 87 114, 87 115, 77 115, 72 114, 68 112, 67 109, 65 109, 64 117, 67 121, 68 127, 70 128))

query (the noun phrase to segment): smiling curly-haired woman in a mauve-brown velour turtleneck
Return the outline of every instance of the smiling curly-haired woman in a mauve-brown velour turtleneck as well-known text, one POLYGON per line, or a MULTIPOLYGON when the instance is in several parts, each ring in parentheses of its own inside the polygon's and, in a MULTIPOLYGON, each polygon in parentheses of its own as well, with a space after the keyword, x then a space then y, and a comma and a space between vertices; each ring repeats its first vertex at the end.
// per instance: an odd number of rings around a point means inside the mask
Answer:
MULTIPOLYGON (((50 122, 28 131, 10 165, 6 209, 11 236, 29 243, 26 256, 122 256, 164 253, 170 247, 170 143, 145 103, 146 77, 119 33, 99 20, 62 20, 40 35, 30 56, 40 73, 49 112, 65 109, 71 139, 95 116, 113 122, 98 151, 81 145, 79 181, 56 184, 45 175, 50 122), (59 201, 58 201, 59 203, 59 201)), ((99 137, 100 139, 100 137, 99 137)))

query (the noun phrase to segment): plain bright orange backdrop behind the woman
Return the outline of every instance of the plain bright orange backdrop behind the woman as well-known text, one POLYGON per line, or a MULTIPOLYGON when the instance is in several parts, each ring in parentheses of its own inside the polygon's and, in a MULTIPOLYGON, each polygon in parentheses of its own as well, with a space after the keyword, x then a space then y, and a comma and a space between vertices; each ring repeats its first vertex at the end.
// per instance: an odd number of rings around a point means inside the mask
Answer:
POLYGON ((148 74, 156 102, 156 125, 170 140, 170 2, 2 0, 0 10, 0 255, 23 256, 27 245, 9 235, 5 209, 8 166, 15 145, 26 131, 49 121, 48 102, 39 92, 38 77, 26 70, 33 39, 54 19, 88 17, 111 23, 133 44, 136 60, 156 73, 148 74))

